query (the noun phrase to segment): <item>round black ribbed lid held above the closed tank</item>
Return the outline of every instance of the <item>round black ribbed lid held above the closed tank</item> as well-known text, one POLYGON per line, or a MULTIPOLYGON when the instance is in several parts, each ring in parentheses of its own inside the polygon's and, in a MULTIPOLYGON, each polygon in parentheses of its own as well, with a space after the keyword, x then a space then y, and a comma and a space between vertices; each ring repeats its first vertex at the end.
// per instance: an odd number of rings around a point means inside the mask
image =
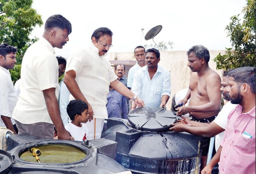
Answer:
POLYGON ((169 110, 159 107, 133 109, 128 116, 130 124, 145 131, 167 131, 176 122, 176 116, 169 110))

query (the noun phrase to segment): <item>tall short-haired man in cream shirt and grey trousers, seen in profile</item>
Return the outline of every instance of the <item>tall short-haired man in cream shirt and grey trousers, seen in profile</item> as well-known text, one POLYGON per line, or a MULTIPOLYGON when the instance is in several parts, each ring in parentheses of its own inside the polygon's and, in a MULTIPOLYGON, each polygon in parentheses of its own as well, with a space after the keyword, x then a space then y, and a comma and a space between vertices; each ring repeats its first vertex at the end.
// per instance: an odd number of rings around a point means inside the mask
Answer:
POLYGON ((72 32, 71 23, 62 15, 50 16, 43 37, 26 51, 21 68, 18 102, 13 112, 19 134, 27 133, 42 139, 72 139, 60 117, 59 66, 54 47, 63 48, 72 32))

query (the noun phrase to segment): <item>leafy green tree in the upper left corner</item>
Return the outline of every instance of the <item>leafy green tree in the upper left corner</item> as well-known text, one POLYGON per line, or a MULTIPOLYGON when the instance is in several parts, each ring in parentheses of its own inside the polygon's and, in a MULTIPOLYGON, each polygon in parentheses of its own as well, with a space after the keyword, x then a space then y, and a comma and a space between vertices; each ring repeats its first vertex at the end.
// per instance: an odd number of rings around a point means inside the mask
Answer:
MULTIPOLYGON (((18 49, 17 65, 21 64, 27 48, 37 40, 29 38, 31 31, 36 25, 43 25, 41 15, 31 8, 32 3, 33 0, 0 0, 0 44, 7 43, 18 49)), ((10 72, 15 74, 13 81, 20 78, 20 67, 10 72)))

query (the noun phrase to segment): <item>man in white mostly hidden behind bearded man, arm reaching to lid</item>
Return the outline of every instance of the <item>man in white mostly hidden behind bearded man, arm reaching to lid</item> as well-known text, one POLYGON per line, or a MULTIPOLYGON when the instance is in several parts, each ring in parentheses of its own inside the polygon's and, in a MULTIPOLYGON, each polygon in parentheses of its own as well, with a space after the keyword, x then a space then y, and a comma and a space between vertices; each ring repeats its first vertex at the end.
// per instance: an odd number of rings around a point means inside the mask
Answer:
POLYGON ((223 140, 224 130, 227 127, 227 117, 229 112, 236 107, 236 104, 231 104, 228 95, 228 74, 233 69, 223 72, 223 78, 220 88, 223 99, 228 101, 219 112, 218 116, 211 123, 202 123, 191 121, 187 117, 182 117, 183 120, 178 120, 179 123, 172 124, 173 127, 170 128, 174 132, 188 132, 193 135, 203 136, 203 137, 213 137, 215 136, 215 149, 216 152, 220 147, 220 143, 223 140))

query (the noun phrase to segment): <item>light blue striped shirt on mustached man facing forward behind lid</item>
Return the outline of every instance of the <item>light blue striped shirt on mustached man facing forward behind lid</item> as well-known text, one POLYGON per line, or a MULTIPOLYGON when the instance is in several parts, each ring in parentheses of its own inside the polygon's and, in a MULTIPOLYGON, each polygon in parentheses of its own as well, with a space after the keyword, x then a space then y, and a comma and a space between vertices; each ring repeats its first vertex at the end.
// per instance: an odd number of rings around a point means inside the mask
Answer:
POLYGON ((159 107, 163 95, 171 96, 170 73, 158 65, 150 80, 148 67, 143 66, 134 75, 132 92, 144 101, 145 106, 159 107))

